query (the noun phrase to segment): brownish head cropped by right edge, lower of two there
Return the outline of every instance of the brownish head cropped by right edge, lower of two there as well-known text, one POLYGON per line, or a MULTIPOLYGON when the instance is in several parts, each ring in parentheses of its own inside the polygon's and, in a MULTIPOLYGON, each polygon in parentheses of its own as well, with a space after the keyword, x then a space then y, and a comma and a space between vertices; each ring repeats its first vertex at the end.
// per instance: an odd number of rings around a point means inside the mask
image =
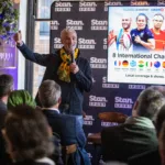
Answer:
POLYGON ((165 121, 162 124, 162 129, 158 136, 158 150, 162 160, 162 165, 165 165, 165 121))

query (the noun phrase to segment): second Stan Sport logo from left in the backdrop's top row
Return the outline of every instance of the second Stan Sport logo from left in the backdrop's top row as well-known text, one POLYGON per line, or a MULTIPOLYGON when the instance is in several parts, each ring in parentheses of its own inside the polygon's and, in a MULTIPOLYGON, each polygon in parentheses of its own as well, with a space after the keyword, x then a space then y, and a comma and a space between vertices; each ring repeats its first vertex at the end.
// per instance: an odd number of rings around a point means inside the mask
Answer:
POLYGON ((97 3, 96 2, 79 2, 79 11, 87 12, 87 11, 96 11, 97 3))

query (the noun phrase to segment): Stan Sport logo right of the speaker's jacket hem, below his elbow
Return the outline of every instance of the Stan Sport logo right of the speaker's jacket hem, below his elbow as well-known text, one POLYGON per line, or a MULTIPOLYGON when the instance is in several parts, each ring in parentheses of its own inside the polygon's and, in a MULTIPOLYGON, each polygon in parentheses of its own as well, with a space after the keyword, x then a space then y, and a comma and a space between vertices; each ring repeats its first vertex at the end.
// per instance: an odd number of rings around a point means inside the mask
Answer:
POLYGON ((89 107, 106 107, 107 102, 106 97, 89 96, 89 107))

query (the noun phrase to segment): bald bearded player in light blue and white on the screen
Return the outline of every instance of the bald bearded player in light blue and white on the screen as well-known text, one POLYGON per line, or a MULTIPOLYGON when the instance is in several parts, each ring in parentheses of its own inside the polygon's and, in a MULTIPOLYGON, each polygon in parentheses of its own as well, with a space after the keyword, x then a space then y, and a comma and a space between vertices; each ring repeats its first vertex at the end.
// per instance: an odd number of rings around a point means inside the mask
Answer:
POLYGON ((131 51, 131 35, 130 35, 130 29, 131 29, 131 22, 132 19, 128 15, 123 15, 121 19, 122 29, 120 30, 119 34, 114 34, 114 31, 110 31, 108 36, 108 46, 111 46, 114 41, 117 44, 117 50, 120 52, 129 52, 131 51), (129 45, 124 45, 123 43, 123 35, 127 35, 128 38, 130 38, 129 45))

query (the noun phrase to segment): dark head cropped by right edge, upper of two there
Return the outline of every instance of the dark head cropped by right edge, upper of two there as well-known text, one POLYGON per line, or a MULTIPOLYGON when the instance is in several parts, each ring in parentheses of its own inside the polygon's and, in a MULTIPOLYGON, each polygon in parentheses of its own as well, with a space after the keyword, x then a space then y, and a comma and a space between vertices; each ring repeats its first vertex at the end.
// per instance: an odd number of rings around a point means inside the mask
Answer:
POLYGON ((157 113, 155 127, 157 131, 157 136, 160 135, 163 122, 165 121, 165 105, 161 108, 160 112, 157 113))

